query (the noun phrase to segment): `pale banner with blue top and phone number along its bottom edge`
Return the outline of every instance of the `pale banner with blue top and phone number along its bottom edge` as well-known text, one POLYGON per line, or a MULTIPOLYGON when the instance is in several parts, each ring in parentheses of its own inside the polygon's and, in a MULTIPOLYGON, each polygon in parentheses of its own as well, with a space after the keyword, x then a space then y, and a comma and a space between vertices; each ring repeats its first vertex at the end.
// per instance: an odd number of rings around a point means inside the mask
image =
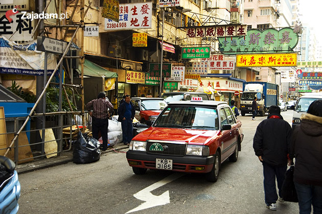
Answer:
MULTIPOLYGON (((36 51, 37 40, 24 45, 0 36, 0 73, 20 75, 43 75, 44 52, 36 51)), ((48 54, 47 75, 51 75, 57 65, 54 54, 48 54)))

